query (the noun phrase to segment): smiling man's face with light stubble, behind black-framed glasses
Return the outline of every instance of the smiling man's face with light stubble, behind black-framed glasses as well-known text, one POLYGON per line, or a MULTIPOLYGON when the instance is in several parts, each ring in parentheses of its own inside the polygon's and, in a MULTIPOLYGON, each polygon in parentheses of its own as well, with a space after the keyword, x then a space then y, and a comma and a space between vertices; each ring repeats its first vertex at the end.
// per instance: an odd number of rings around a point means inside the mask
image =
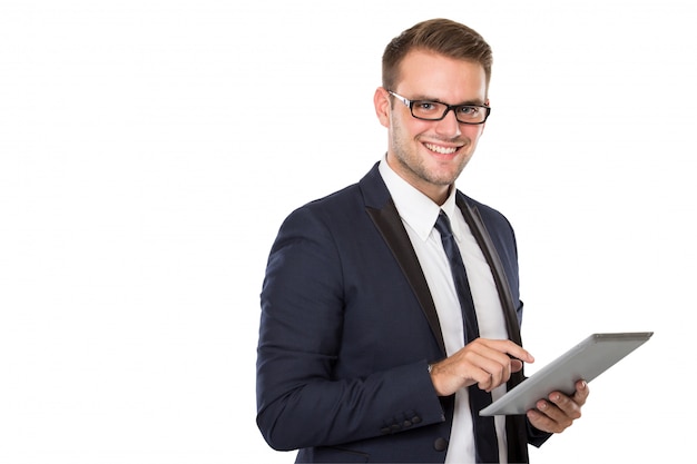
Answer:
MULTIPOLYGON (((392 90, 410 100, 448 105, 488 105, 484 69, 473 61, 454 60, 426 51, 412 51, 401 63, 400 81, 392 90)), ((412 117, 408 106, 390 105, 385 89, 375 92, 375 109, 389 129, 387 164, 403 179, 442 204, 468 164, 484 125, 465 125, 449 111, 440 121, 412 117)))

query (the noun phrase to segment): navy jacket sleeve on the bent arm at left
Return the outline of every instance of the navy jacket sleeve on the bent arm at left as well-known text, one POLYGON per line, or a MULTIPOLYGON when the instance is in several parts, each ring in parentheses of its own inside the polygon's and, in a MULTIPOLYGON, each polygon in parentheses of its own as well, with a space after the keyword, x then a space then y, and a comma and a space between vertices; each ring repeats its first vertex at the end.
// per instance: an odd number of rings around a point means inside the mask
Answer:
MULTIPOLYGON (((276 450, 347 443, 444 421, 425 359, 336 378, 344 336, 342 256, 312 208, 284 221, 261 295, 257 424, 276 450)), ((365 353, 366 357, 371 353, 365 353)))

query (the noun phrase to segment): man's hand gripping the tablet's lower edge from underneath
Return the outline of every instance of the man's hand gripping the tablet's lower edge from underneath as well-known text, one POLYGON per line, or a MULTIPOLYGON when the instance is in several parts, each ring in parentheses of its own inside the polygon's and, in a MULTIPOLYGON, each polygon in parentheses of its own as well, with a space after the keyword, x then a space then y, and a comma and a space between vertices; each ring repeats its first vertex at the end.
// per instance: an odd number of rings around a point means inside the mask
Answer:
POLYGON ((581 406, 586 404, 589 393, 588 383, 585 381, 576 383, 572 396, 552 392, 548 396, 549 401, 540 399, 536 404, 536 409, 528 411, 530 424, 543 432, 563 432, 581 416, 581 406))

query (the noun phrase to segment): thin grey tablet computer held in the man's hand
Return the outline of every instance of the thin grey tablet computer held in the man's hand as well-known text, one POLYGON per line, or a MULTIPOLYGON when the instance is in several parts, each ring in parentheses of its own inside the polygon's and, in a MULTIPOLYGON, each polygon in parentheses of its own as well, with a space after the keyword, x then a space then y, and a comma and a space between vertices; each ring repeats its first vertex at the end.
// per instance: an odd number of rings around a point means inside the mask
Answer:
POLYGON ((480 411, 482 416, 526 414, 557 391, 568 395, 576 382, 590 382, 646 343, 652 332, 592 334, 480 411))

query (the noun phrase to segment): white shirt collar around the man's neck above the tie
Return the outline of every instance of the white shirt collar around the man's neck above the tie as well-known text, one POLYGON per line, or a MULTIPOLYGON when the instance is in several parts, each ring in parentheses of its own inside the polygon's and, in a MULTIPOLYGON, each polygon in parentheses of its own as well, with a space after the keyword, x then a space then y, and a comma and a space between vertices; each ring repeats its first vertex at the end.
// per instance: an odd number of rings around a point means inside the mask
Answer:
POLYGON ((433 200, 421 191, 412 187, 406 180, 402 179, 387 165, 387 160, 383 158, 380 162, 380 175, 382 176, 394 206, 396 206, 400 217, 406 223, 422 240, 426 240, 433 230, 435 220, 441 209, 445 211, 451 219, 453 234, 458 235, 457 224, 453 220, 455 214, 455 188, 451 187, 450 195, 442 206, 438 206, 433 200))

